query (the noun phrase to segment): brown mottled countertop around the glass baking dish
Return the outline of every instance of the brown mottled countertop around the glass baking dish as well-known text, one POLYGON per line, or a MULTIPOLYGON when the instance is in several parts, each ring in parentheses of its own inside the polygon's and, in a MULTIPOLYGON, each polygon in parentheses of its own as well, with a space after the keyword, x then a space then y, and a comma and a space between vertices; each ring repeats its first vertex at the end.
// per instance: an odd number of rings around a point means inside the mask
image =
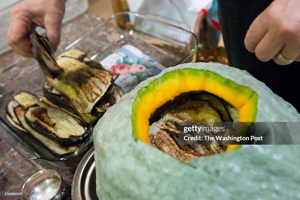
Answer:
MULTIPOLYGON (((58 50, 62 50, 84 33, 92 30, 101 21, 100 17, 87 12, 64 24, 58 50)), ((17 82, 19 78, 30 73, 29 69, 32 67, 38 67, 37 61, 33 58, 23 58, 12 50, 0 55, 0 94, 4 92, 7 83, 17 82)), ((0 191, 21 192, 25 181, 42 169, 56 170, 70 187, 76 169, 62 170, 44 160, 24 159, 5 141, 7 134, 8 131, 0 126, 0 191)), ((0 196, 0 199, 20 199, 20 197, 0 196)))

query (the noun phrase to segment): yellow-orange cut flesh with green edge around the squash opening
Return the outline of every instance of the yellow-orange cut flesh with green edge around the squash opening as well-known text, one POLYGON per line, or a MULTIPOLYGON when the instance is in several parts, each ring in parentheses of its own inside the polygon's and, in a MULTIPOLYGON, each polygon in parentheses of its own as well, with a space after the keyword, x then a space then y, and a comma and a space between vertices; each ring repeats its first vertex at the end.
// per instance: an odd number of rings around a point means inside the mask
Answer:
POLYGON ((212 71, 184 68, 167 72, 138 91, 132 106, 133 135, 148 143, 149 118, 155 110, 182 93, 201 90, 215 94, 236 107, 239 121, 255 121, 256 92, 212 71))

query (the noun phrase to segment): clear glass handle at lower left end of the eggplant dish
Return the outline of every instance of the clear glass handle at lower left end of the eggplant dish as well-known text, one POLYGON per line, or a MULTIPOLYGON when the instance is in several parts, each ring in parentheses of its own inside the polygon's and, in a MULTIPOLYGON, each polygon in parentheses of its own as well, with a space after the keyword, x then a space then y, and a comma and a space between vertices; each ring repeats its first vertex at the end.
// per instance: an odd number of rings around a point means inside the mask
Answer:
POLYGON ((17 139, 11 127, 7 125, 2 118, 0 118, 0 124, 10 132, 8 134, 7 131, 5 131, 5 133, 1 134, 0 137, 4 139, 11 147, 13 147, 19 154, 21 154, 23 158, 25 158, 26 160, 35 160, 40 158, 40 156, 35 151, 27 147, 27 145, 17 139))

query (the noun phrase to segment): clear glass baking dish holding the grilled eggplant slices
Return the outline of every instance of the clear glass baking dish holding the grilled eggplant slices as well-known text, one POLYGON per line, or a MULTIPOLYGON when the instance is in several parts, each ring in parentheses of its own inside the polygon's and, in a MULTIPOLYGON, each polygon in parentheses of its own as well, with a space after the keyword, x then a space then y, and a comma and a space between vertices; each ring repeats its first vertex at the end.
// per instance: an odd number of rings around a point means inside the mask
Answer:
MULTIPOLYGON (((164 67, 190 62, 198 46, 198 39, 184 28, 146 14, 122 12, 100 22, 92 31, 71 44, 64 44, 62 41, 55 55, 71 48, 79 48, 92 60, 102 61, 125 45, 134 46, 143 55, 148 55, 162 70, 164 67)), ((14 94, 25 90, 32 94, 43 95, 44 77, 35 60, 18 63, 14 67, 19 68, 18 70, 26 70, 26 75, 20 77, 15 75, 15 79, 0 85, 0 124, 7 130, 1 133, 1 137, 25 159, 44 159, 52 165, 65 169, 77 166, 86 150, 92 145, 91 136, 78 151, 58 156, 39 142, 33 142, 35 141, 33 137, 21 134, 7 122, 6 106, 14 94)), ((5 76, 14 75, 10 70, 6 70, 0 75, 0 79, 5 76)))

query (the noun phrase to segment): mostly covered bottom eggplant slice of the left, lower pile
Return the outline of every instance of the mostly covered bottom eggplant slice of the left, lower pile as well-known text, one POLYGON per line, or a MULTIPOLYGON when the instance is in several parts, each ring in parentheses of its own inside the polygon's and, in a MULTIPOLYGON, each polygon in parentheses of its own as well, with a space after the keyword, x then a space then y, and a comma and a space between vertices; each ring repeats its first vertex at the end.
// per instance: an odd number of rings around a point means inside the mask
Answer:
POLYGON ((32 134, 36 139, 38 139, 42 144, 44 144, 47 148, 49 148, 52 152, 58 155, 68 154, 72 153, 74 151, 77 151, 79 147, 76 145, 68 146, 68 147, 62 147, 58 142, 53 141, 52 139, 49 139, 48 137, 44 136, 41 133, 38 133, 34 129, 32 129, 25 120, 25 109, 22 106, 17 106, 15 108, 16 116, 18 117, 20 124, 22 127, 24 127, 25 134, 32 134))

